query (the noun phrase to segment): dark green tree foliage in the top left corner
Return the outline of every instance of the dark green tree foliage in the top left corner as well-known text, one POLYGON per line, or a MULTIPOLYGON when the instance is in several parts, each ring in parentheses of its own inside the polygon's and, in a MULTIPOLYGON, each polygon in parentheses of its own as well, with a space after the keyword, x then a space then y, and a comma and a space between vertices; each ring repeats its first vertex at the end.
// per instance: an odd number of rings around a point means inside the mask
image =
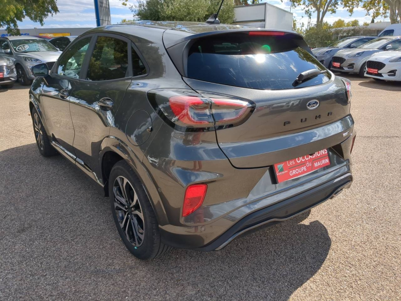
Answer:
POLYGON ((59 10, 57 0, 0 0, 0 28, 6 27, 9 34, 19 35, 17 22, 28 18, 39 22, 41 26, 44 20, 59 10))

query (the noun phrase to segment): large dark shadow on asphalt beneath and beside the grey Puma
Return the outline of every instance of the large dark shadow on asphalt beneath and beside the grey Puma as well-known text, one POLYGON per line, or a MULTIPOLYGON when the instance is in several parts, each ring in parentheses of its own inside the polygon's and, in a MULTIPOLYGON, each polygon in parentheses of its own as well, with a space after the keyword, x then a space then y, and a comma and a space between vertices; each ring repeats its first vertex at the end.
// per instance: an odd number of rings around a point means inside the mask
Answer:
POLYGON ((287 300, 331 246, 319 221, 300 223, 306 213, 220 251, 173 249, 144 262, 120 241, 108 199, 61 156, 43 158, 31 143, 0 152, 0 170, 0 278, 17 298, 25 287, 33 299, 125 299, 134 290, 146 299, 287 300))

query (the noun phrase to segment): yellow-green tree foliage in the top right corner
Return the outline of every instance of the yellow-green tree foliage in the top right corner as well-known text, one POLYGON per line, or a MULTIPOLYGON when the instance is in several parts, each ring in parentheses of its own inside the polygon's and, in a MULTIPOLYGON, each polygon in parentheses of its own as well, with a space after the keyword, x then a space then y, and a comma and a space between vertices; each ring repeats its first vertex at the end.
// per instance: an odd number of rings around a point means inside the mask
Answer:
POLYGON ((355 8, 361 7, 366 10, 366 15, 372 18, 390 18, 391 24, 401 21, 400 0, 343 0, 344 8, 352 15, 355 8))

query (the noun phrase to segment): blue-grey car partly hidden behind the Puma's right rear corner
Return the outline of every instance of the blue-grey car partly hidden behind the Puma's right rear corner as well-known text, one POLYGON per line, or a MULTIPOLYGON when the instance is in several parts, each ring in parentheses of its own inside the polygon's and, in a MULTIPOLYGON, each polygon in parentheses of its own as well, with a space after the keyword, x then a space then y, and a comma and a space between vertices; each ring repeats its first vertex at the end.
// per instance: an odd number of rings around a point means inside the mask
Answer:
POLYGON ((366 42, 369 42, 377 37, 368 37, 368 36, 355 36, 341 39, 339 41, 334 42, 333 44, 327 47, 319 47, 312 49, 312 53, 315 55, 317 60, 322 63, 322 65, 326 68, 331 68, 331 60, 333 56, 342 49, 347 48, 355 48, 366 42))

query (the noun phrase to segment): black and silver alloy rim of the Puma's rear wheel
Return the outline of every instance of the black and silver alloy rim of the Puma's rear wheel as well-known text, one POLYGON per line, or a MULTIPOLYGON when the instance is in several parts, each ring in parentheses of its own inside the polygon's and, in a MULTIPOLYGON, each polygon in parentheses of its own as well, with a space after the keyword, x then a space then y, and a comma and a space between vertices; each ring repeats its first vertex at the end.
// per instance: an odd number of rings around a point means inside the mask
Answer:
POLYGON ((138 194, 129 181, 119 176, 113 185, 114 210, 127 240, 139 247, 144 239, 144 219, 138 194))

